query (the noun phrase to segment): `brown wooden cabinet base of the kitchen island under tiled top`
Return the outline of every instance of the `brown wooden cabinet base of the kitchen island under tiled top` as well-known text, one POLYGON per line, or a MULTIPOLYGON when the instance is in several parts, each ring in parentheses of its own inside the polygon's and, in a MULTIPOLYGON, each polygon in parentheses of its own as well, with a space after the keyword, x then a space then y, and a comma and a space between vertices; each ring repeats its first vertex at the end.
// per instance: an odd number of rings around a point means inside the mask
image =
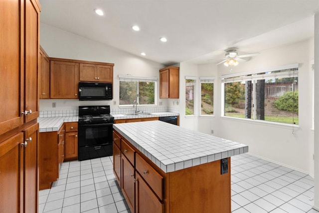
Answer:
MULTIPOLYGON (((113 136, 113 140, 121 138, 122 148, 121 164, 114 173, 132 213, 231 212, 230 158, 228 173, 223 175, 221 160, 165 173, 121 134, 114 131, 113 136), (134 159, 128 160, 132 150, 134 159)), ((118 153, 117 145, 113 146, 118 153)), ((113 155, 115 163, 117 158, 113 155)))

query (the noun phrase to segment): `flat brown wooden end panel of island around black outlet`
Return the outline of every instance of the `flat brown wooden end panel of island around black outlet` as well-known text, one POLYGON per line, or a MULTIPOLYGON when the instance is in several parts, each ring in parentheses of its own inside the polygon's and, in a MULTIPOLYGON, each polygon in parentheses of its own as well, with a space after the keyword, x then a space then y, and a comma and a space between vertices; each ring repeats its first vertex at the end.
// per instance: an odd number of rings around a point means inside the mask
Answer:
POLYGON ((171 213, 230 213, 230 198, 230 158, 223 175, 220 160, 169 173, 171 213))

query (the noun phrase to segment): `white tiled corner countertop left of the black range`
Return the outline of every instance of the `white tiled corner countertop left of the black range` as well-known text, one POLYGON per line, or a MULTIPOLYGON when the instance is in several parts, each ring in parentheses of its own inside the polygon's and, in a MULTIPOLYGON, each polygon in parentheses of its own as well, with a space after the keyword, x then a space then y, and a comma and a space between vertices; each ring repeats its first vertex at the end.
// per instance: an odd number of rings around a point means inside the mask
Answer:
POLYGON ((58 131, 64 122, 77 122, 78 116, 38 118, 39 132, 58 131))

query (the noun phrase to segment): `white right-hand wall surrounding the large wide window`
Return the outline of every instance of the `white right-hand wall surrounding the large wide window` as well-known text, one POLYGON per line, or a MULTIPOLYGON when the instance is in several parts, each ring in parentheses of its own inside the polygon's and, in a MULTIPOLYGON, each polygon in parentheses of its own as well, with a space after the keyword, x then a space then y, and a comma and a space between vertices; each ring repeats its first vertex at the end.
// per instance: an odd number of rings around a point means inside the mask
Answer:
MULTIPOLYGON (((312 78, 309 61, 314 58, 314 39, 291 45, 264 50, 252 60, 240 63, 231 73, 246 72, 261 68, 276 67, 285 64, 299 63, 299 127, 292 134, 292 126, 269 124, 260 121, 220 117, 221 115, 221 82, 220 75, 230 74, 229 67, 218 66, 217 86, 214 93, 215 117, 211 118, 214 135, 249 146, 253 155, 269 159, 314 175, 313 132, 312 128, 312 78)), ((214 70, 210 66, 201 66, 201 72, 214 70)), ((180 111, 180 114, 182 112, 180 111)), ((199 118, 198 127, 208 125, 199 118)), ((198 129, 201 131, 201 129, 198 129)), ((210 133, 210 131, 206 133, 210 133)))

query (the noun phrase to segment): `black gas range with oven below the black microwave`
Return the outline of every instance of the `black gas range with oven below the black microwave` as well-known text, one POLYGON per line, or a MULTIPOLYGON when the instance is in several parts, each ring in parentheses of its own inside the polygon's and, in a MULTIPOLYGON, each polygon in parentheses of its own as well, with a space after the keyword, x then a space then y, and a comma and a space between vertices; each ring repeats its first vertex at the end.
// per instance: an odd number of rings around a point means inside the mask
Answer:
POLYGON ((79 106, 78 160, 113 155, 113 123, 110 106, 79 106))

